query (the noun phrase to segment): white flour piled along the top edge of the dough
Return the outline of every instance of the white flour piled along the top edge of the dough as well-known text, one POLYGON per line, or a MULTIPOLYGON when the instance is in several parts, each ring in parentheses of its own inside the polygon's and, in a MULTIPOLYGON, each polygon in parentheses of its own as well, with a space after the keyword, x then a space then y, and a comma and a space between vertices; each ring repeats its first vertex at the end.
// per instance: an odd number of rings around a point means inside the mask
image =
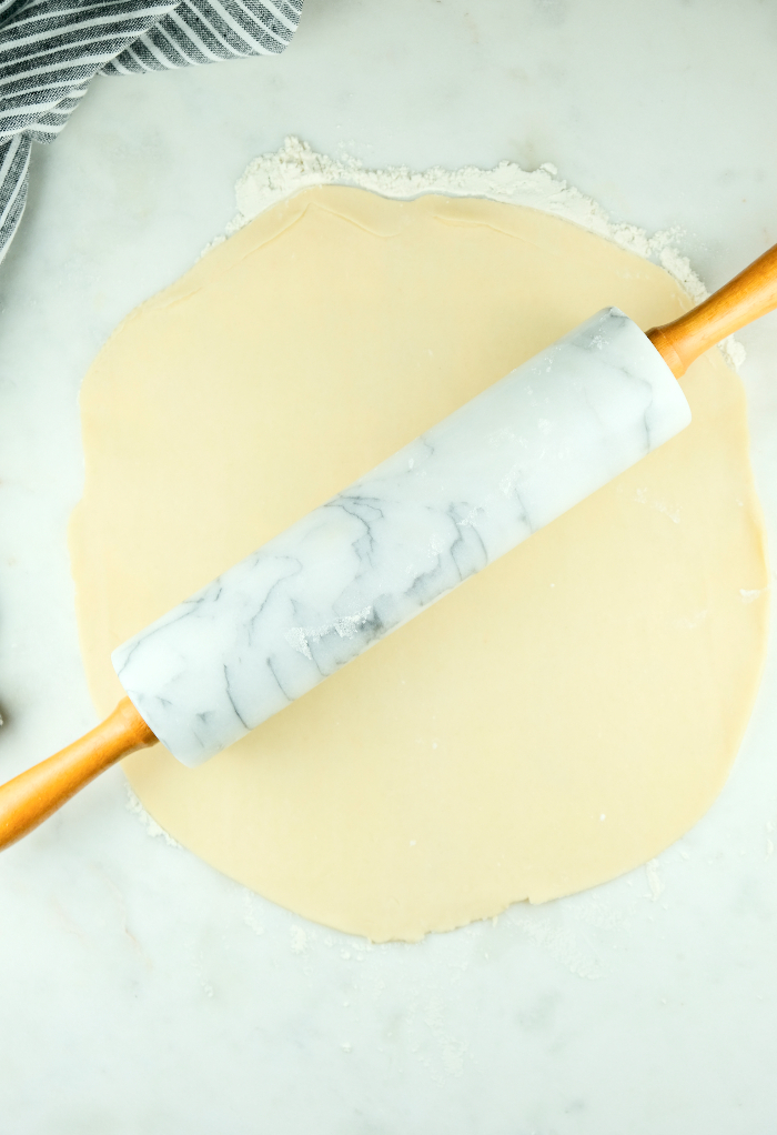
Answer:
MULTIPOLYGON (((493 169, 479 169, 476 166, 454 170, 442 169, 441 166, 425 170, 413 170, 407 166, 366 169, 357 158, 330 158, 316 153, 301 138, 287 137, 276 153, 254 158, 247 166, 235 186, 237 213, 227 225, 225 234, 216 237, 203 253, 221 244, 264 209, 301 190, 315 185, 353 185, 405 201, 424 193, 439 193, 448 197, 489 197, 540 209, 661 264, 694 303, 707 299, 709 292, 691 268, 689 259, 673 244, 679 235, 677 229, 649 236, 636 225, 613 221, 601 205, 560 180, 557 174, 550 162, 529 173, 512 161, 500 161, 493 169)), ((742 365, 745 350, 733 336, 724 339, 719 347, 730 367, 736 370, 742 365)))

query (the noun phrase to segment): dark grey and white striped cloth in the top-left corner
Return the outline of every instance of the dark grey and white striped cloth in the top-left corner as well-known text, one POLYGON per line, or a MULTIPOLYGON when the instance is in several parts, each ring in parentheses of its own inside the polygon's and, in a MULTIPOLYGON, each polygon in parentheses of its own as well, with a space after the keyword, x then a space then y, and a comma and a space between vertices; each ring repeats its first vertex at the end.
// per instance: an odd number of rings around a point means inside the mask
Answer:
POLYGON ((278 54, 303 0, 0 0, 0 260, 27 196, 33 142, 53 142, 102 75, 278 54))

